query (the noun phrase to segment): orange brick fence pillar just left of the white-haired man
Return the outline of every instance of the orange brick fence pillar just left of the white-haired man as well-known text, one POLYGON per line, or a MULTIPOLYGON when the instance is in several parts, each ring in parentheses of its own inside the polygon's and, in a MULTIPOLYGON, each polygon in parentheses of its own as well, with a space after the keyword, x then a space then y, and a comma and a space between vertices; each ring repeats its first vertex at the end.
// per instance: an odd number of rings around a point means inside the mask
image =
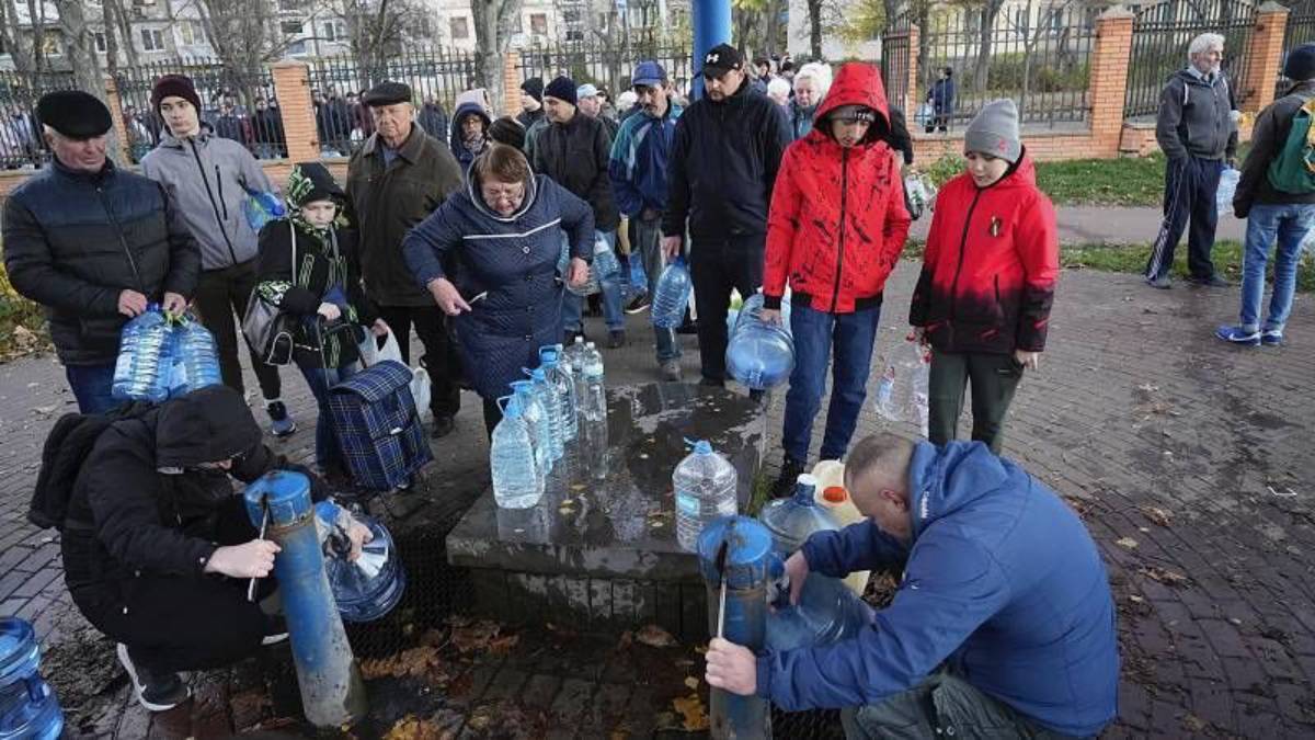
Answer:
POLYGON ((1132 58, 1131 11, 1115 5, 1095 20, 1095 49, 1088 91, 1091 95, 1090 157, 1119 155, 1123 136, 1123 97, 1128 88, 1128 61, 1132 58))

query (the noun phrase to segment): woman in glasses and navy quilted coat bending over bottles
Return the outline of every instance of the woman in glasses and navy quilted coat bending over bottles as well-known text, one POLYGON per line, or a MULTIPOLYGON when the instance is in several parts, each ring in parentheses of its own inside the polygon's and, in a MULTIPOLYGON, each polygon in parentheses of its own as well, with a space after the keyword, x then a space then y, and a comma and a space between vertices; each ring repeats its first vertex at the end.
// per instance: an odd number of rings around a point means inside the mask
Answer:
POLYGON ((454 317, 492 435, 502 419, 497 399, 510 394, 522 367, 538 365, 540 346, 562 341, 563 279, 580 286, 589 278, 593 211, 534 175, 519 150, 494 144, 471 165, 466 190, 406 234, 402 253, 416 280, 454 317), (563 230, 567 275, 558 274, 563 230), (452 262, 459 284, 447 277, 452 262))

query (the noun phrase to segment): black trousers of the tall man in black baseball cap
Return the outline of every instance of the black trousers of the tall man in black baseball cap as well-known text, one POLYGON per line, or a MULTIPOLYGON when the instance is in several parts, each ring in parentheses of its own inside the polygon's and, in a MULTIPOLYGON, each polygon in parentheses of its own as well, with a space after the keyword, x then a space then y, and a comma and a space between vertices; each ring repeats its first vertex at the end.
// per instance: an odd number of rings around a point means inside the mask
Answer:
POLYGON ((689 269, 698 309, 698 356, 707 381, 726 379, 726 312, 731 291, 748 299, 763 284, 767 234, 690 240, 689 269))

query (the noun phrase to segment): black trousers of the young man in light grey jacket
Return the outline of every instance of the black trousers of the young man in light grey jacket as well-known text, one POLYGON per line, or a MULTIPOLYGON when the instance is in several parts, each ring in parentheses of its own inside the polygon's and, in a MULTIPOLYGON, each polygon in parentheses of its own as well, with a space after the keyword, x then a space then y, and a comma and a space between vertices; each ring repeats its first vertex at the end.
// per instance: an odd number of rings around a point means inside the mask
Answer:
MULTIPOLYGON (((247 299, 251 298, 256 283, 255 262, 247 259, 220 270, 203 270, 193 305, 201 317, 201 324, 214 334, 224 384, 239 394, 245 394, 246 387, 242 383, 242 363, 238 362, 238 329, 233 315, 242 316, 246 312, 247 299)), ((250 350, 251 348, 247 348, 247 352, 250 350)), ((251 369, 255 370, 256 381, 260 383, 260 394, 267 399, 279 398, 281 392, 279 369, 266 365, 254 352, 251 352, 251 369)))

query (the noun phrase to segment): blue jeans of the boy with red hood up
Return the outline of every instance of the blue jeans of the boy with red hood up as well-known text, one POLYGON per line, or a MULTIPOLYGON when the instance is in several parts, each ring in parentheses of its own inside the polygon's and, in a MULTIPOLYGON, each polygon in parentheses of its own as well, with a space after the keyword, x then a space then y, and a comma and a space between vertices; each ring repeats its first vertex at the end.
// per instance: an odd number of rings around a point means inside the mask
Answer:
POLYGON ((868 374, 872 369, 872 346, 877 340, 881 305, 853 313, 826 313, 802 305, 790 311, 794 334, 794 371, 785 394, 785 428, 781 444, 785 454, 798 462, 809 460, 813 417, 826 394, 826 367, 835 363, 831 377, 831 407, 826 412, 826 436, 822 437, 822 460, 839 460, 853 437, 853 427, 868 398, 868 374))

